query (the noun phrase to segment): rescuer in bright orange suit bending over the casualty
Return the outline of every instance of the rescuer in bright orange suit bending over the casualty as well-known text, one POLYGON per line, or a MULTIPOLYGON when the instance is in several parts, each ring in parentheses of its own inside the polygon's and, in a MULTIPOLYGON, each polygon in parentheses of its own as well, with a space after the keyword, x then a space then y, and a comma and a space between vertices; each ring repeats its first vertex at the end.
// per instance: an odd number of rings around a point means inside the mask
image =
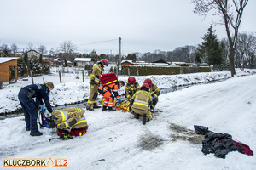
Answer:
POLYGON ((103 87, 100 86, 98 88, 99 93, 102 94, 102 96, 105 98, 102 111, 116 111, 113 109, 113 100, 116 98, 119 103, 123 102, 123 100, 119 99, 118 93, 118 89, 123 86, 125 86, 124 81, 117 81, 103 87))

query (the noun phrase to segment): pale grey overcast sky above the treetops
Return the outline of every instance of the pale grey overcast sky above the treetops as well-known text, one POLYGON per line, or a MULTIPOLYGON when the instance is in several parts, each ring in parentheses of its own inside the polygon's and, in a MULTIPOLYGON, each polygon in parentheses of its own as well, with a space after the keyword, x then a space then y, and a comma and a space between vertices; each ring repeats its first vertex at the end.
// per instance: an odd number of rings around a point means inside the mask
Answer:
MULTIPOLYGON (((190 0, 0 0, 0 42, 59 48, 71 41, 79 53, 147 53, 200 44, 216 16, 193 13, 190 0)), ((240 31, 256 32, 256 1, 245 8, 240 31)), ((224 26, 213 26, 218 38, 224 26)))

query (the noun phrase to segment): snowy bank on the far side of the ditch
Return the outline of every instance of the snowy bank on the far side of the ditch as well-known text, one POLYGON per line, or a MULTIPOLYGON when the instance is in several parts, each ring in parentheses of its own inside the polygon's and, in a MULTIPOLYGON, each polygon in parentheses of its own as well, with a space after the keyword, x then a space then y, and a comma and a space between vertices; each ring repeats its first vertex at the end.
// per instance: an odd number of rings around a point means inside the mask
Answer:
MULTIPOLYGON (((69 69, 70 72, 70 69, 69 69)), ((256 73, 256 70, 236 71, 237 76, 245 76, 256 73)), ((161 76, 143 76, 136 77, 137 82, 142 85, 146 78, 151 78, 153 83, 158 88, 172 88, 176 86, 183 86, 189 84, 196 84, 201 82, 212 82, 230 77, 230 71, 221 72, 209 72, 209 73, 196 73, 196 74, 183 74, 183 75, 161 75, 161 76)), ((128 76, 119 76, 119 80, 123 80, 127 83, 128 76)), ((53 82, 55 88, 51 91, 49 98, 50 103, 55 105, 73 104, 77 102, 84 102, 88 99, 90 94, 89 81, 90 77, 85 76, 84 82, 82 73, 62 73, 61 82, 58 71, 52 69, 51 75, 44 75, 41 77, 33 77, 34 83, 53 82)), ((0 115, 9 113, 20 109, 20 102, 18 100, 18 93, 20 88, 32 83, 30 77, 20 78, 17 83, 5 85, 0 90, 1 103, 0 103, 0 115), (26 81, 24 81, 26 80, 26 81)), ((119 93, 124 94, 125 87, 121 88, 119 93)))

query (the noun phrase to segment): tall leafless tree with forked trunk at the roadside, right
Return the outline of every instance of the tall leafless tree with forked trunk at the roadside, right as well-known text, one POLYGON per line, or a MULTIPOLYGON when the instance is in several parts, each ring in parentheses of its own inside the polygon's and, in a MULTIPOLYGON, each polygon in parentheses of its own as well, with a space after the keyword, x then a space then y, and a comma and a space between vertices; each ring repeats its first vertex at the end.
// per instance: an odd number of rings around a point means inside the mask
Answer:
POLYGON ((221 16, 221 23, 224 24, 228 41, 230 43, 230 71, 231 77, 236 75, 234 57, 238 29, 241 25, 241 17, 248 0, 192 0, 194 3, 194 13, 207 16, 211 10, 221 16))

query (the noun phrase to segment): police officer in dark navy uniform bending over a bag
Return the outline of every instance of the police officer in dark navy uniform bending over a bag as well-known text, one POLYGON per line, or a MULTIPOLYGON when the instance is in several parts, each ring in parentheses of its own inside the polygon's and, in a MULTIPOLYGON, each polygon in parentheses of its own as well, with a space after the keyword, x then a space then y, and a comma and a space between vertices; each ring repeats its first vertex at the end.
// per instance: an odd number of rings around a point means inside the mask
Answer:
POLYGON ((54 88, 52 82, 44 84, 31 84, 20 89, 18 98, 24 111, 26 131, 31 131, 32 136, 41 136, 43 133, 38 131, 38 106, 46 105, 47 110, 51 113, 52 108, 49 103, 49 92, 54 88), (34 101, 33 98, 36 98, 34 101), (44 103, 42 101, 44 99, 44 103))

